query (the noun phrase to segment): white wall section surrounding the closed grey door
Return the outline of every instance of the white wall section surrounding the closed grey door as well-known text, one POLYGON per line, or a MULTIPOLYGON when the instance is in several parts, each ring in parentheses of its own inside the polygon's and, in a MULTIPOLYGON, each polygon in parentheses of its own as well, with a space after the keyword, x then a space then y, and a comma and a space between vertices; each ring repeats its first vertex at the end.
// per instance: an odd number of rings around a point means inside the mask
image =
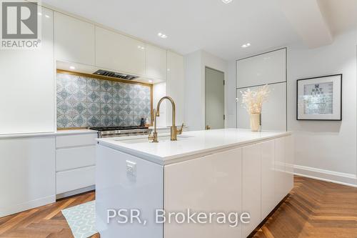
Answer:
MULTIPOLYGON (((186 61, 186 100, 185 121, 191 131, 205 128, 205 67, 223 71, 224 79, 228 79, 228 64, 206 51, 195 51, 185 56, 186 61)), ((225 101, 227 97, 225 88, 225 101)), ((227 106, 228 104, 225 103, 227 106)), ((225 109, 227 111, 227 109, 225 109)))

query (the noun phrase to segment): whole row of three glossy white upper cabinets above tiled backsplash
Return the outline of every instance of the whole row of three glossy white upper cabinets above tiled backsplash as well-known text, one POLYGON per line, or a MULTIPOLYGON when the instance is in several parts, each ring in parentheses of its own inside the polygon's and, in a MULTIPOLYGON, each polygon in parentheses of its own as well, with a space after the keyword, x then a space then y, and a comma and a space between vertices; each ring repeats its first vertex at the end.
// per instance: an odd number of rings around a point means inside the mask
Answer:
POLYGON ((55 59, 166 81, 166 49, 55 12, 55 59))

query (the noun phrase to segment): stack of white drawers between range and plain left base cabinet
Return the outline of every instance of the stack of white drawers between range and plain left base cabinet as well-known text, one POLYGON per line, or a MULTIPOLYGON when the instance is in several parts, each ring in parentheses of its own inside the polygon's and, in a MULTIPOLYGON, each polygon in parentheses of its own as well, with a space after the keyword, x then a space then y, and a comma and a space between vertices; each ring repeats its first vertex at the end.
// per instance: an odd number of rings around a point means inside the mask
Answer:
POLYGON ((94 189, 96 132, 56 137, 56 194, 67 197, 94 189))

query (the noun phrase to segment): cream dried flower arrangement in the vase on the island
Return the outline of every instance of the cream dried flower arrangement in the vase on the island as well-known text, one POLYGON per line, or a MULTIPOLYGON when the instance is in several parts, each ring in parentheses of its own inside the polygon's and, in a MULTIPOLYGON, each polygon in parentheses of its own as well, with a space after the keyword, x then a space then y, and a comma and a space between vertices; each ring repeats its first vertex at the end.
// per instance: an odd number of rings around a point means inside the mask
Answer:
POLYGON ((268 100, 270 94, 268 84, 259 87, 257 91, 247 89, 241 91, 243 108, 245 108, 249 114, 260 114, 263 102, 268 100))

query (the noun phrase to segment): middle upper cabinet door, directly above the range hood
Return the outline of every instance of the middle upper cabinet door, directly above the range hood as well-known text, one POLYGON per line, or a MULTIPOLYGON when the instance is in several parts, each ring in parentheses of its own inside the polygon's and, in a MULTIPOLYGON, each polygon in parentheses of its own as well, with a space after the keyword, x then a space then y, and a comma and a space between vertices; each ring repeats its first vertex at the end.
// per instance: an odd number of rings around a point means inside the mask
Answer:
POLYGON ((145 44, 96 26, 96 66, 144 76, 145 44))

